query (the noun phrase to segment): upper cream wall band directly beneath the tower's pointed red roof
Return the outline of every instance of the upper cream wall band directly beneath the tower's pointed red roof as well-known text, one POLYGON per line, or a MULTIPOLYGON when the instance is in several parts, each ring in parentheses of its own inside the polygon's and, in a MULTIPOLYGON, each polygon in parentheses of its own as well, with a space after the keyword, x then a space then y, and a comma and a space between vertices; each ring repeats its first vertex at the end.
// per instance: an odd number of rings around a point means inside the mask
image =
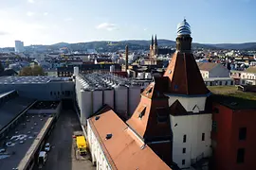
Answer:
POLYGON ((206 105, 206 96, 202 97, 188 97, 188 96, 174 96, 174 95, 168 95, 169 96, 169 106, 172 106, 173 103, 178 100, 182 106, 187 111, 193 111, 192 109, 196 105, 199 110, 205 110, 206 105))

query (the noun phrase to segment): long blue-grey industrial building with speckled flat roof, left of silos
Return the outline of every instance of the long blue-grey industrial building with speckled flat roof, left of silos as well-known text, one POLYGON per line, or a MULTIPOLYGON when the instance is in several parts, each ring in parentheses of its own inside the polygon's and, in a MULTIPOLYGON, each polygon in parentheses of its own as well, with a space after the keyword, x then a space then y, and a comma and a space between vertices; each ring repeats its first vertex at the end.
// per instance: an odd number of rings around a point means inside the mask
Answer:
POLYGON ((73 99, 71 78, 54 76, 1 76, 0 93, 16 90, 20 96, 37 100, 73 99))

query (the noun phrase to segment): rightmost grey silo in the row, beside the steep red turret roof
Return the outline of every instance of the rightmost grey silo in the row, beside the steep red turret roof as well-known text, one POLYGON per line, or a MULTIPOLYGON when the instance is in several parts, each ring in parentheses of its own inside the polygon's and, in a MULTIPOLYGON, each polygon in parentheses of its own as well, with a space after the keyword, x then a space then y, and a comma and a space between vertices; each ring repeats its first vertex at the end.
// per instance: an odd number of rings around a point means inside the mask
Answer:
POLYGON ((131 116, 137 108, 140 101, 140 86, 129 87, 129 116, 131 116))

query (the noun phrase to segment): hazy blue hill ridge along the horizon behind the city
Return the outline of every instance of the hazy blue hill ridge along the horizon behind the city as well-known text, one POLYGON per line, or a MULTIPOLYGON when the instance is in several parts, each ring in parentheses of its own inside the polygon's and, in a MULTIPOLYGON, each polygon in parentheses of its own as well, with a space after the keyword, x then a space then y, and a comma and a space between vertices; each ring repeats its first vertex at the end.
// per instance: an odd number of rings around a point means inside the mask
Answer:
MULTIPOLYGON (((112 41, 99 41, 99 42, 78 42, 67 43, 59 42, 52 45, 30 45, 26 46, 26 50, 57 50, 62 47, 68 47, 72 51, 86 52, 87 49, 96 49, 99 52, 115 52, 118 50, 124 50, 125 45, 129 45, 130 50, 149 50, 151 40, 126 40, 119 42, 112 41)), ((175 47, 175 42, 171 40, 159 39, 158 45, 160 47, 175 47)), ((198 43, 192 42, 193 48, 205 48, 205 49, 236 49, 236 50, 256 50, 256 42, 246 43, 198 43)), ((1 49, 1 48, 0 48, 1 49)), ((8 48, 2 48, 8 49, 8 48)), ((13 48, 11 48, 13 49, 13 48)))

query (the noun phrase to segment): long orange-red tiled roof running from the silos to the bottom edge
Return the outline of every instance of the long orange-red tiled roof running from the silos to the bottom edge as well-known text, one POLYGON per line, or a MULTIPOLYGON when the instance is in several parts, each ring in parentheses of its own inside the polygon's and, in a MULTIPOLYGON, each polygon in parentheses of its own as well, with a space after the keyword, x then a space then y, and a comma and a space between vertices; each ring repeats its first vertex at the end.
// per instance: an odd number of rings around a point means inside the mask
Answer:
POLYGON ((101 110, 100 118, 89 119, 89 125, 101 144, 104 155, 112 169, 165 170, 170 167, 154 151, 140 141, 135 133, 110 108, 101 110), (106 134, 112 138, 105 140, 106 134))

